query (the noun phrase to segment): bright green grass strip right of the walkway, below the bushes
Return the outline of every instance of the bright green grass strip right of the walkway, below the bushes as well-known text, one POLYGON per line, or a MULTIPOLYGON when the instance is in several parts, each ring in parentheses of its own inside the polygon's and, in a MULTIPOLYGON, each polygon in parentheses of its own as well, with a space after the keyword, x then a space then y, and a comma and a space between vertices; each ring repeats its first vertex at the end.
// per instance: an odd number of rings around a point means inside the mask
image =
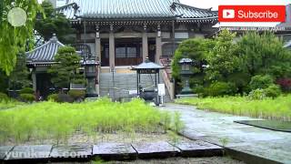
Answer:
POLYGON ((237 116, 291 120, 291 96, 264 100, 250 100, 247 97, 182 98, 177 99, 176 103, 237 116))

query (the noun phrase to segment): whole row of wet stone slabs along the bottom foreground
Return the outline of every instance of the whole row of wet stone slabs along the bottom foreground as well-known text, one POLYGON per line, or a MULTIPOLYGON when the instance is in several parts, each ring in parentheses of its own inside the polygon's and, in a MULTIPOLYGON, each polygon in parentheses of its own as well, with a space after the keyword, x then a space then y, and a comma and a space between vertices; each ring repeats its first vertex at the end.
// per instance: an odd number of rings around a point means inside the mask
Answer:
POLYGON ((186 141, 177 145, 166 141, 142 143, 98 143, 96 145, 31 145, 0 147, 0 163, 37 163, 58 161, 161 159, 171 157, 222 156, 223 149, 204 141, 186 141))

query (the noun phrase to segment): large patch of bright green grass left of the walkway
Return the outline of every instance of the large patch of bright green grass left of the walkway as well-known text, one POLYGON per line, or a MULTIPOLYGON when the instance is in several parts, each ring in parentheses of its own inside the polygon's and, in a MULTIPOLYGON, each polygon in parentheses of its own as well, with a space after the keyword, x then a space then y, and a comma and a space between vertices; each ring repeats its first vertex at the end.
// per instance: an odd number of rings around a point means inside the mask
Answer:
POLYGON ((107 98, 80 104, 42 102, 0 110, 0 141, 21 143, 32 138, 53 138, 58 143, 76 131, 88 136, 115 132, 164 133, 171 127, 172 119, 174 116, 140 99, 128 103, 113 103, 107 98))

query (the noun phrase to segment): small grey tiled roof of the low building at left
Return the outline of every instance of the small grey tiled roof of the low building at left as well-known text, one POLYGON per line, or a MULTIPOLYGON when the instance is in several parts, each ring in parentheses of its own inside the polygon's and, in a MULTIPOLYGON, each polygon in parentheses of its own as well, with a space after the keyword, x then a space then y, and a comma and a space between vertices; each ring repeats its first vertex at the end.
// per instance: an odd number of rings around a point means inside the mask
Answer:
POLYGON ((54 62, 55 55, 60 46, 65 46, 53 36, 43 46, 38 46, 34 50, 26 52, 26 59, 28 64, 41 64, 47 62, 54 62))

